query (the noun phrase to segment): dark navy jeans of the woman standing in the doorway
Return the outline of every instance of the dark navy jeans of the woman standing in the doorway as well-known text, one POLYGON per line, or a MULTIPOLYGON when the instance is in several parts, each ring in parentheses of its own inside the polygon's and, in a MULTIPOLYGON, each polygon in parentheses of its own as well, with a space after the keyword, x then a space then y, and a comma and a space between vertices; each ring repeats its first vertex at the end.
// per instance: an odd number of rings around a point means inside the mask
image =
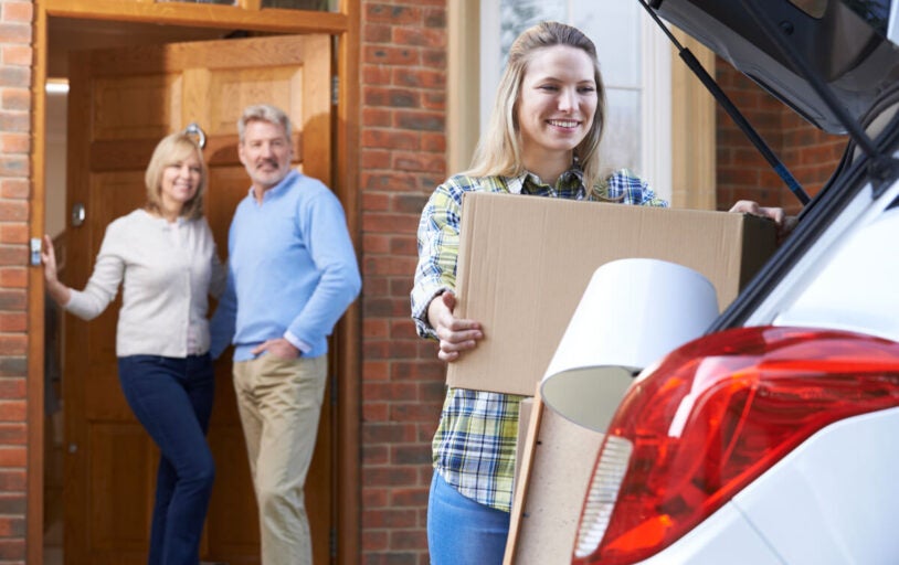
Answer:
POLYGON ((128 405, 159 447, 150 565, 197 565, 215 477, 205 440, 215 375, 209 354, 118 359, 128 405))

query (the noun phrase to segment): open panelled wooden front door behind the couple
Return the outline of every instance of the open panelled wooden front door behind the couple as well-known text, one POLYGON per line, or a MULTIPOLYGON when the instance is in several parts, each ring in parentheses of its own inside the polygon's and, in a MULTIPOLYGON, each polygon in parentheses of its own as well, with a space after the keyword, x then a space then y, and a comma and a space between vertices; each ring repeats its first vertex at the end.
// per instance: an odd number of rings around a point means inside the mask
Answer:
MULTIPOLYGON (((210 164, 207 214, 222 259, 228 226, 250 181, 237 160, 236 120, 271 103, 294 122, 297 166, 330 183, 331 41, 327 35, 253 38, 75 53, 70 62, 70 209, 66 282, 86 284, 106 225, 145 202, 156 143, 197 122, 210 164)), ((120 296, 120 294, 119 294, 120 296)), ((65 563, 146 563, 158 450, 121 394, 116 369, 118 301, 99 318, 65 321, 65 563)), ((229 350, 216 363, 209 441, 216 477, 201 558, 260 563, 258 521, 231 384, 229 350)), ((315 563, 329 562, 334 509, 329 403, 322 407, 306 504, 315 563)))

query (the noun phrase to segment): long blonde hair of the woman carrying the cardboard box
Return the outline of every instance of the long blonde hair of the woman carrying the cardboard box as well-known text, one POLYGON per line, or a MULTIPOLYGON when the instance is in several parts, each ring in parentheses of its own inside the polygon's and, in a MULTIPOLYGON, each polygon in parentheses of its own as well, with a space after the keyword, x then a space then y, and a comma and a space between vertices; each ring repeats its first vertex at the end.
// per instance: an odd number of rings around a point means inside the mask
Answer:
POLYGON ((605 86, 600 73, 596 46, 583 32, 559 22, 541 22, 521 32, 509 49, 509 61, 496 93, 494 110, 487 130, 478 141, 472 168, 465 174, 472 177, 518 177, 525 172, 521 162, 521 134, 518 125, 518 102, 521 83, 528 65, 539 50, 556 45, 580 49, 593 63, 596 82, 596 113, 584 139, 574 148, 574 157, 584 171, 584 186, 590 189, 601 179, 600 140, 605 125, 605 86))

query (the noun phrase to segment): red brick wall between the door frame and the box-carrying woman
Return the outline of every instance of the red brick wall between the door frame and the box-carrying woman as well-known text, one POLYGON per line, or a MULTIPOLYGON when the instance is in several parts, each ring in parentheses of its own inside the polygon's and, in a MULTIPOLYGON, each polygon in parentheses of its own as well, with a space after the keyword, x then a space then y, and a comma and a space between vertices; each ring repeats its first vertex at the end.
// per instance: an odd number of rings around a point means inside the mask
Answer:
POLYGON ((446 177, 446 0, 362 2, 363 563, 427 564, 444 366, 415 335, 415 230, 446 177))

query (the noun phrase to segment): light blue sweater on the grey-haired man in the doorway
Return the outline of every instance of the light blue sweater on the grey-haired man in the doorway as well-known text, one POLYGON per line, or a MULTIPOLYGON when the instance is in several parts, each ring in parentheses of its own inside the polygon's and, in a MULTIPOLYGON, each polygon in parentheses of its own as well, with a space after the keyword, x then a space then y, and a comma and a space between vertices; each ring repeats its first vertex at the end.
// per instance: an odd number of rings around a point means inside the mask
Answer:
POLYGON ((228 238, 228 287, 211 321, 214 358, 234 343, 234 361, 260 343, 287 338, 328 351, 327 337, 362 282, 343 209, 320 181, 290 171, 265 191, 251 189, 228 238))

